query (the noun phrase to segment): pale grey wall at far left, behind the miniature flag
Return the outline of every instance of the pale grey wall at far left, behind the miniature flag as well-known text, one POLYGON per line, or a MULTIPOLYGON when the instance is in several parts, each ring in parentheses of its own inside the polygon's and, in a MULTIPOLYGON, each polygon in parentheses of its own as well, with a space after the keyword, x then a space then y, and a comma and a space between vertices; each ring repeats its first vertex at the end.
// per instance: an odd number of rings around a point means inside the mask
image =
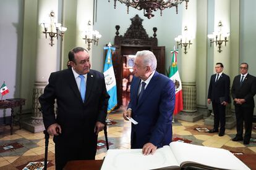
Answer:
MULTIPOLYGON (((22 60, 23 1, 0 2, 0 84, 5 81, 9 94, 4 99, 20 97, 20 70, 22 60)), ((11 111, 0 110, 0 117, 11 111)))

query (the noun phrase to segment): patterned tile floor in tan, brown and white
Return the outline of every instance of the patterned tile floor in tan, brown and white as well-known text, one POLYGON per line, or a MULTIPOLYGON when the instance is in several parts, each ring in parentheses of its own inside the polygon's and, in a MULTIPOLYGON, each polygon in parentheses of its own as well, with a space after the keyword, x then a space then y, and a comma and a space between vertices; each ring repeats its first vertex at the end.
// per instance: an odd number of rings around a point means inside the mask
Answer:
MULTIPOLYGON (((109 115, 109 118, 115 122, 108 126, 109 148, 130 148, 130 123, 123 120, 121 111, 122 109, 109 115)), ((231 152, 256 154, 255 142, 244 145, 242 142, 232 141, 232 138, 236 135, 235 128, 226 129, 225 135, 219 137, 217 133, 198 132, 195 130, 197 127, 212 128, 211 126, 205 126, 203 120, 195 123, 178 121, 173 123, 173 139, 186 140, 190 144, 225 148, 231 152)), ((33 134, 24 129, 19 130, 19 126, 15 126, 14 134, 10 136, 9 133, 9 126, 0 127, 0 169, 43 169, 45 154, 45 136, 43 132, 33 134)), ((256 138, 255 129, 252 131, 252 137, 256 138)), ((96 159, 101 160, 106 154, 103 132, 99 134, 98 140, 96 159)), ((48 161, 48 169, 55 169, 52 137, 49 139, 48 161)))

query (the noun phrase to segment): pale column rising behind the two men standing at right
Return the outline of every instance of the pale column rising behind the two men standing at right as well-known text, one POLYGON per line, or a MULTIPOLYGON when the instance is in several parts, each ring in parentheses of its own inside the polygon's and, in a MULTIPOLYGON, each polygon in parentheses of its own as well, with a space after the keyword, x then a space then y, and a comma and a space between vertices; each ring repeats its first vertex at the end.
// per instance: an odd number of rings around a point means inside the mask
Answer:
MULTIPOLYGON (((215 31, 218 31, 218 23, 222 23, 221 30, 224 32, 230 32, 230 25, 231 25, 231 16, 230 16, 230 0, 226 1, 221 1, 221 0, 215 0, 215 20, 214 20, 214 27, 215 31)), ((228 37, 228 40, 230 37, 228 37)), ((213 65, 215 63, 221 62, 224 65, 223 73, 226 75, 230 75, 231 73, 231 68, 230 68, 230 63, 231 63, 231 52, 230 52, 230 47, 231 47, 231 42, 227 42, 227 45, 224 46, 221 44, 221 52, 218 52, 218 46, 212 46, 214 47, 213 50, 213 65)), ((215 73, 215 69, 213 67, 213 74, 215 73)), ((232 104, 232 103, 231 103, 232 104)), ((231 114, 231 104, 229 104, 226 107, 226 128, 231 129, 235 126, 235 119, 234 115, 231 114)), ((213 113, 205 119, 205 124, 211 124, 213 125, 213 113)))

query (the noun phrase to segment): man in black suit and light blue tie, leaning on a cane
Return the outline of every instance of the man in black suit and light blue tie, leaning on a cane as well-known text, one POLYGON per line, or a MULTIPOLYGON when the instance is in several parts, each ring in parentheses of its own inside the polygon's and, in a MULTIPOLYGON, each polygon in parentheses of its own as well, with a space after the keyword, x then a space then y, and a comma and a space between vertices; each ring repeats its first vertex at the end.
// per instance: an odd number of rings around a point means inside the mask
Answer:
POLYGON ((43 123, 54 135, 56 169, 64 168, 70 160, 95 159, 98 132, 105 126, 109 99, 104 75, 90 70, 90 56, 85 49, 72 49, 69 61, 70 68, 51 73, 39 97, 43 123))

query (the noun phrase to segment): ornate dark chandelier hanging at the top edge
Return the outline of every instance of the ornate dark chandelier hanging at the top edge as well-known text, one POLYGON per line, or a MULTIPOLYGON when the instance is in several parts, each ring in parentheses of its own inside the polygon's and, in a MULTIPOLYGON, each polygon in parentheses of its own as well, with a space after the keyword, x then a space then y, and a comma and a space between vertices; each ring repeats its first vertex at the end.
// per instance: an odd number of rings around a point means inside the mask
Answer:
MULTIPOLYGON (((116 1, 121 2, 121 4, 126 4, 127 6, 127 14, 129 14, 129 7, 134 7, 135 9, 144 10, 144 16, 150 19, 155 15, 152 14, 153 11, 160 9, 160 14, 162 16, 162 10, 166 8, 176 7, 177 14, 177 6, 181 4, 183 1, 187 2, 189 0, 114 0, 114 9, 116 9, 116 1)), ((108 0, 110 2, 110 0, 108 0)))

